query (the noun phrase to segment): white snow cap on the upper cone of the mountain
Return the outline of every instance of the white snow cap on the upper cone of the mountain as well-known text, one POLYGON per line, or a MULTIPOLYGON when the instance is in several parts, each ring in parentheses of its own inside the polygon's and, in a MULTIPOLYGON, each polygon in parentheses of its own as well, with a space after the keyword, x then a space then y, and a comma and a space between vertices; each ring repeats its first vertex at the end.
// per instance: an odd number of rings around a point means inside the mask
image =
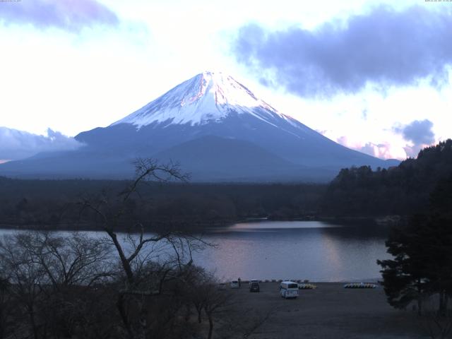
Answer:
POLYGON ((231 76, 206 71, 110 126, 126 123, 140 129, 153 123, 203 125, 220 122, 231 112, 251 114, 273 126, 280 119, 295 123, 231 76))

